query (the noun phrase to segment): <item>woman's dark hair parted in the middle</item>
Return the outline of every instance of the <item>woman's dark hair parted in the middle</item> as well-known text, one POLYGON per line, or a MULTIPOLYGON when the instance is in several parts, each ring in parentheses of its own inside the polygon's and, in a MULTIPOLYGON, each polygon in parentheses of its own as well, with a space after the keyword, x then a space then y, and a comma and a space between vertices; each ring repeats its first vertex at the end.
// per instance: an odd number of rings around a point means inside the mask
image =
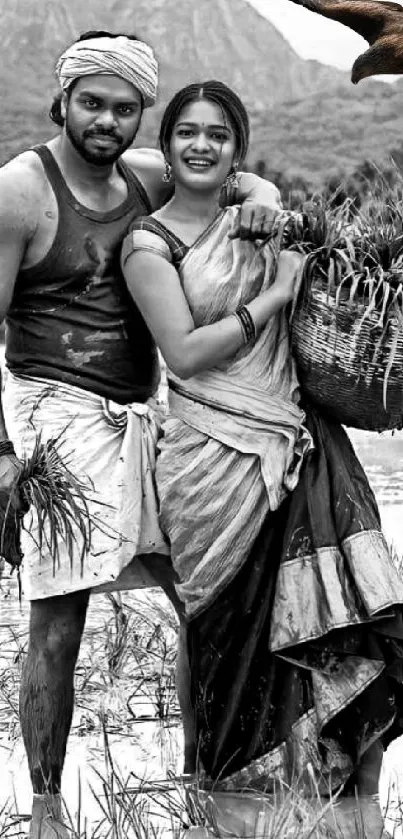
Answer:
POLYGON ((207 82, 196 82, 183 87, 167 105, 161 121, 159 142, 162 153, 169 154, 169 146, 175 124, 180 113, 193 102, 205 99, 218 105, 231 123, 235 135, 235 149, 238 164, 241 164, 247 154, 249 145, 249 118, 244 104, 239 96, 223 82, 214 79, 207 82))

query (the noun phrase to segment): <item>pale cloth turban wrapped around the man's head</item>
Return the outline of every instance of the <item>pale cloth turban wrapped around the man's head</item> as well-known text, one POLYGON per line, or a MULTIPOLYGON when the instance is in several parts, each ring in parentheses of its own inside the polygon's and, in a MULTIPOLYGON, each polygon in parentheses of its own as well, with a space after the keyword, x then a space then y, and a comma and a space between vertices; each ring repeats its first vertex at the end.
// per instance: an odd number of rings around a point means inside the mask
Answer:
POLYGON ((151 47, 125 35, 76 41, 60 56, 56 75, 62 90, 81 76, 119 76, 140 91, 145 108, 157 98, 158 64, 151 47))

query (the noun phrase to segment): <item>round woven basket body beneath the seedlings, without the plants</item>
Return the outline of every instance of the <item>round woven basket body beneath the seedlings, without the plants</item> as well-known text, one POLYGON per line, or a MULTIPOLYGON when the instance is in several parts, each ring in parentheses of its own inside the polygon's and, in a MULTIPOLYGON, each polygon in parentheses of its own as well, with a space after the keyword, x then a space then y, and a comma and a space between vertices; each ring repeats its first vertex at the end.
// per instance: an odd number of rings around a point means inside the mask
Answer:
MULTIPOLYGON (((304 283, 291 321, 301 392, 329 418, 353 428, 403 427, 403 318, 384 306, 385 281, 370 300, 352 283, 330 288, 322 272, 304 283)), ((387 289, 390 300, 390 289, 387 289)))

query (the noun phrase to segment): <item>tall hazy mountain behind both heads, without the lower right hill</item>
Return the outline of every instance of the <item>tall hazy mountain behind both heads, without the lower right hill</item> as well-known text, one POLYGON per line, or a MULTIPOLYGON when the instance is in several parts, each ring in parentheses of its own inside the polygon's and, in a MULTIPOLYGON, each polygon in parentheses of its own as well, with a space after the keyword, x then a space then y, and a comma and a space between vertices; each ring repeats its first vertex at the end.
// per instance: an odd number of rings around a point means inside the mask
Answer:
POLYGON ((80 32, 109 29, 150 42, 161 68, 159 104, 142 137, 154 140, 163 105, 190 81, 232 85, 254 115, 344 81, 345 74, 299 58, 245 0, 2 0, 0 162, 45 139, 56 58, 80 32))

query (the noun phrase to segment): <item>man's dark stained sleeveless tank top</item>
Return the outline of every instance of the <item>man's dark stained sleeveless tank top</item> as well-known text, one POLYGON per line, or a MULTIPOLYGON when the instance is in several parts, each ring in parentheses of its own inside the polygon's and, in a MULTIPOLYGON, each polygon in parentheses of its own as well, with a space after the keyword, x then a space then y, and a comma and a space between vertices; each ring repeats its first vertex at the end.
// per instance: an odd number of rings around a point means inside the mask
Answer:
POLYGON ((100 213, 70 192, 46 146, 37 146, 59 208, 46 256, 18 274, 6 320, 6 362, 16 375, 45 377, 125 404, 158 384, 154 341, 120 269, 131 222, 151 212, 142 185, 120 161, 127 198, 100 213))

